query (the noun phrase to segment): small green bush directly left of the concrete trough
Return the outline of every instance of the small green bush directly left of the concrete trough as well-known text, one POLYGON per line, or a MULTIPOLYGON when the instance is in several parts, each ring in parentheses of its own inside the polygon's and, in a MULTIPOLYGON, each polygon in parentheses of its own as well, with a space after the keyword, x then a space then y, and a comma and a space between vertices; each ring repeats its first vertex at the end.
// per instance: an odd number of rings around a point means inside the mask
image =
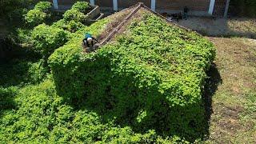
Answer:
POLYGON ((66 10, 65 14, 63 14, 63 19, 66 22, 74 21, 74 22, 85 22, 88 17, 85 14, 82 14, 78 10, 66 10))

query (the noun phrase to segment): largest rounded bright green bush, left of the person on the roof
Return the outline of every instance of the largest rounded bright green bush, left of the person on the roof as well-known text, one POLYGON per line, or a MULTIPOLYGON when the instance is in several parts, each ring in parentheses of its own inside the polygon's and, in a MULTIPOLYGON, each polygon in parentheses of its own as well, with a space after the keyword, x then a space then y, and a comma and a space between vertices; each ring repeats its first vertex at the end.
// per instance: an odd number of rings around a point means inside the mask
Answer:
POLYGON ((68 33, 62 29, 41 24, 34 27, 31 37, 36 50, 48 58, 55 49, 67 42, 68 33))

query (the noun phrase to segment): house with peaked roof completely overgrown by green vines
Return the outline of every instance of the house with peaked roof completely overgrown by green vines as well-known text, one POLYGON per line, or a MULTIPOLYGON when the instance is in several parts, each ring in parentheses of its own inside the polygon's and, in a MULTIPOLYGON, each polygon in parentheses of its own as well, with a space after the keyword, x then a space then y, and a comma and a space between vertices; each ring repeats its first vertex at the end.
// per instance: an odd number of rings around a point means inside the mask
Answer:
POLYGON ((118 126, 193 141, 206 134, 202 93, 214 60, 211 42, 143 4, 79 30, 50 55, 58 94, 118 126), (102 46, 86 53, 90 32, 102 46))

